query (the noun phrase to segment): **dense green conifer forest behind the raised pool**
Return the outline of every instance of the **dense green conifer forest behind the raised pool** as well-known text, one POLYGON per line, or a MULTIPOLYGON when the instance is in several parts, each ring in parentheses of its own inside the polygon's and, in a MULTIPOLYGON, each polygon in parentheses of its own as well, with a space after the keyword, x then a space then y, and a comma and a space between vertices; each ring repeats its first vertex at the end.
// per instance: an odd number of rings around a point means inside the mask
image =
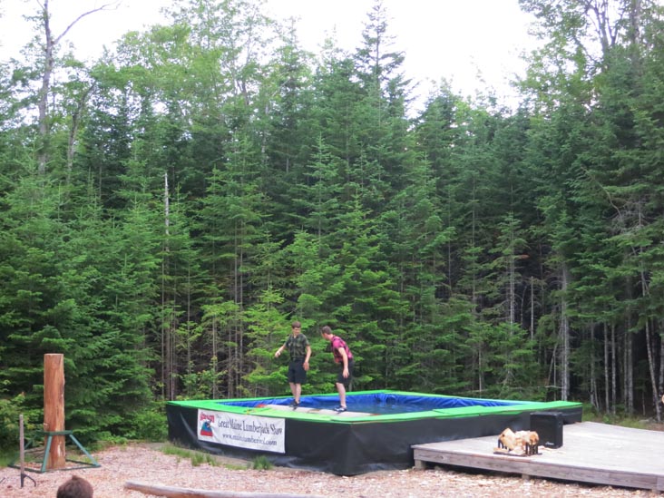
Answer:
POLYGON ((0 442, 41 424, 45 353, 83 440, 287 395, 296 319, 305 393, 333 392, 329 325, 355 390, 661 420, 658 2, 520 0, 518 105, 442 82, 422 112, 379 1, 353 52, 307 53, 258 0, 177 0, 94 63, 42 5, 0 63, 0 442))

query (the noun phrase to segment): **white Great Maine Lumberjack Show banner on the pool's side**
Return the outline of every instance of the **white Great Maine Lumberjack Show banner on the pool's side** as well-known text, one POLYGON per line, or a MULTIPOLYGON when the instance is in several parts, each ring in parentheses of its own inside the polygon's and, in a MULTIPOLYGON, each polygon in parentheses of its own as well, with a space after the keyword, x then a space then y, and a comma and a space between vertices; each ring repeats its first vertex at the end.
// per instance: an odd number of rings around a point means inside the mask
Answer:
POLYGON ((285 429, 283 418, 199 410, 200 441, 286 453, 285 429))

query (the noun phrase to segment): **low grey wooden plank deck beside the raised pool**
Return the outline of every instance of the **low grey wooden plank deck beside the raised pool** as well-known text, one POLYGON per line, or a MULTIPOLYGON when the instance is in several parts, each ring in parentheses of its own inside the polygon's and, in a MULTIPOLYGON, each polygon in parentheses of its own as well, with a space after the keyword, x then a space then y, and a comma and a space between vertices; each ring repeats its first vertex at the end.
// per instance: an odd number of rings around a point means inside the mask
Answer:
POLYGON ((523 476, 664 491, 664 432, 582 422, 564 425, 562 446, 532 456, 494 454, 498 437, 415 444, 415 467, 458 465, 523 476))

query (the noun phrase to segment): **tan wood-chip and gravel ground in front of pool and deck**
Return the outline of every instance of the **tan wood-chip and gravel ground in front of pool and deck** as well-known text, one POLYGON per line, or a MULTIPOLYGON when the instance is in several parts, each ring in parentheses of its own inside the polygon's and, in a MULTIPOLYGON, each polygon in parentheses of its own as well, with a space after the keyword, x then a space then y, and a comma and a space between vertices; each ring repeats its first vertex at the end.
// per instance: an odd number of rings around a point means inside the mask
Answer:
POLYGON ((0 469, 0 497, 54 498, 58 486, 73 474, 87 479, 94 487, 95 498, 141 498, 151 496, 124 488, 128 481, 158 486, 177 486, 217 492, 278 493, 326 496, 327 498, 431 498, 454 497, 630 497, 660 496, 645 490, 552 482, 544 479, 525 480, 520 476, 456 472, 450 469, 408 469, 380 471, 353 477, 274 467, 269 470, 249 469, 250 463, 215 457, 216 465, 193 466, 189 458, 163 454, 159 446, 130 444, 113 446, 94 453, 101 467, 27 473, 24 480, 14 468, 0 469))

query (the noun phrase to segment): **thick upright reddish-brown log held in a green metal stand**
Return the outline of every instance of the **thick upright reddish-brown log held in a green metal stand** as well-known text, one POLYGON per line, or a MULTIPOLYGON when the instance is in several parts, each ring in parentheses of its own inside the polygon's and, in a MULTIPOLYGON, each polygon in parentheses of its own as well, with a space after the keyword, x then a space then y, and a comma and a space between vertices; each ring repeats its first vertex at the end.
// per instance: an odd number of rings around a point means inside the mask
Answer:
MULTIPOLYGON (((64 430, 64 356, 44 355, 44 431, 64 430)), ((44 440, 44 447, 48 435, 44 440)), ((54 435, 48 454, 46 470, 63 469, 66 465, 64 436, 54 435)))

